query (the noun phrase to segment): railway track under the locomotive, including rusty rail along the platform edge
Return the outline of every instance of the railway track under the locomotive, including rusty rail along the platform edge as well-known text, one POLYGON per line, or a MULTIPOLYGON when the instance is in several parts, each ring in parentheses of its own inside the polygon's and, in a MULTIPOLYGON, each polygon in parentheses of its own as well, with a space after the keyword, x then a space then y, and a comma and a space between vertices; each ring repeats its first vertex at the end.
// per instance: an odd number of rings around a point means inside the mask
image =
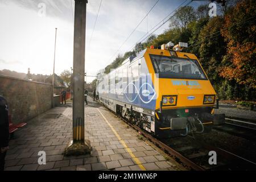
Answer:
MULTIPOLYGON (((92 97, 91 94, 89 94, 89 96, 92 97)), ((101 104, 100 102, 98 103, 101 104)), ((106 107, 106 109, 108 108, 106 107)), ((117 115, 113 111, 112 113, 117 115)), ((126 119, 120 117, 119 115, 117 115, 117 117, 122 119, 122 121, 126 122, 129 126, 133 127, 133 129, 137 130, 138 133, 143 135, 143 137, 147 138, 150 142, 154 143, 155 146, 162 149, 164 152, 166 152, 166 154, 172 156, 172 158, 183 164, 188 169, 195 171, 256 170, 256 163, 233 154, 232 152, 226 151, 220 147, 210 146, 209 144, 200 141, 199 136, 193 138, 188 135, 188 137, 159 140, 142 130, 140 127, 131 125, 131 123, 127 122, 126 119), (209 151, 216 151, 217 164, 209 164, 209 151)))

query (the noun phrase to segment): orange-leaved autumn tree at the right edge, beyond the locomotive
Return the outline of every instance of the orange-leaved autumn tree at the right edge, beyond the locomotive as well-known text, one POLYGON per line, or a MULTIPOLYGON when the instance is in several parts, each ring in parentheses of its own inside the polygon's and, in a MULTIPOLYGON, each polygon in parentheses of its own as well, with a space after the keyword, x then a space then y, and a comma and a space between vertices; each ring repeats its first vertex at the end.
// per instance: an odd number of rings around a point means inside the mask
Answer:
POLYGON ((241 1, 226 15, 221 30, 228 52, 220 76, 256 89, 255 1, 241 1))

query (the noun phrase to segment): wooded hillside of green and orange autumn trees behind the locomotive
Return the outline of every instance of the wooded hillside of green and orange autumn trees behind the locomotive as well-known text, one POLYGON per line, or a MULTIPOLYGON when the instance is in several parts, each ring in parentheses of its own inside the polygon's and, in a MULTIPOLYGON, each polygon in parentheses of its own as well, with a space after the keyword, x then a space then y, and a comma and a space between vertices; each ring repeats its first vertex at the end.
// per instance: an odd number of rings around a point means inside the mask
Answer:
POLYGON ((129 56, 153 45, 187 42, 184 52, 194 53, 202 63, 221 100, 256 99, 255 0, 227 0, 217 4, 218 16, 209 17, 208 4, 177 9, 169 28, 136 44, 133 51, 118 55, 105 73, 129 56))

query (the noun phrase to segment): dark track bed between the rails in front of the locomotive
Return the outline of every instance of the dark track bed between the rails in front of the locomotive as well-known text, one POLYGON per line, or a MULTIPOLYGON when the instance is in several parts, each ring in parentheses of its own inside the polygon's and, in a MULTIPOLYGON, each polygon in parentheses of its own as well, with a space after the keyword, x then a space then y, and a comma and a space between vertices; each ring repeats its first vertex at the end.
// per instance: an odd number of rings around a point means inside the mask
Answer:
POLYGON ((188 135, 188 137, 163 139, 162 142, 180 152, 181 155, 186 156, 204 170, 256 170, 255 162, 223 148, 205 143, 200 139, 200 135, 195 135, 195 138, 188 135), (210 151, 216 152, 217 164, 209 164, 210 151))

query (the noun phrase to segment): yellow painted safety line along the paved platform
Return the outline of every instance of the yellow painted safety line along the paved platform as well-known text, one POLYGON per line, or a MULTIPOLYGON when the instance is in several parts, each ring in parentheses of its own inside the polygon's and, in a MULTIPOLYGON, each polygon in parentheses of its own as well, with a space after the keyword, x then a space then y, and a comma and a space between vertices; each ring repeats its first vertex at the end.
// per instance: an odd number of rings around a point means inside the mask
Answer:
MULTIPOLYGON (((97 108, 98 109, 98 108, 97 108)), ((139 166, 139 168, 142 169, 142 171, 146 171, 146 168, 142 165, 141 161, 136 158, 136 156, 133 154, 133 152, 131 151, 131 149, 129 147, 127 147, 126 143, 122 140, 122 138, 118 135, 117 131, 115 131, 114 127, 112 125, 110 125, 110 123, 108 122, 108 119, 106 119, 104 117, 104 115, 101 113, 100 109, 98 109, 99 113, 101 114, 102 118, 105 119, 106 123, 108 123, 110 129, 112 129, 113 133, 115 134, 115 137, 118 138, 118 140, 122 143, 123 147, 125 147, 125 149, 127 150, 127 152, 130 154, 131 158, 134 159, 135 163, 137 163, 137 165, 139 166)))

